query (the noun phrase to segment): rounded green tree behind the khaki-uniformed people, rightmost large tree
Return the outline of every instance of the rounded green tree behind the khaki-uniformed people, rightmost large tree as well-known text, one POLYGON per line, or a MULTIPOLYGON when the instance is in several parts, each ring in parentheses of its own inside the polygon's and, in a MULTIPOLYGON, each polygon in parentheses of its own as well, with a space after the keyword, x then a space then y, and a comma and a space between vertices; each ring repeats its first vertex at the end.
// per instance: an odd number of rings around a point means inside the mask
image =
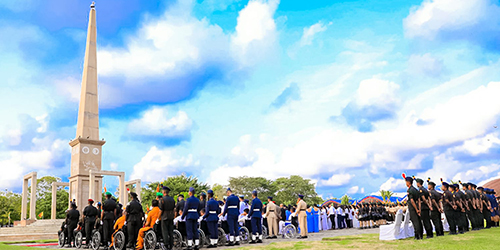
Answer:
POLYGON ((304 201, 309 205, 323 203, 310 179, 298 175, 281 177, 276 179, 272 186, 272 189, 276 190, 274 199, 276 203, 295 204, 299 194, 304 195, 304 201))

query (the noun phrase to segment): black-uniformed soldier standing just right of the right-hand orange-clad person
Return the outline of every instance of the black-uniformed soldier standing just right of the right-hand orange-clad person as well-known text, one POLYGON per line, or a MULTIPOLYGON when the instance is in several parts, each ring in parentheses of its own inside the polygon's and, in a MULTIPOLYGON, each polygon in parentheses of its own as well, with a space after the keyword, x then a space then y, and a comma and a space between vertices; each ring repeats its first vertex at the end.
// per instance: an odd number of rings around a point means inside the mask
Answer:
POLYGON ((163 198, 160 200, 161 233, 167 250, 174 247, 175 201, 169 196, 169 192, 170 188, 163 187, 163 198))

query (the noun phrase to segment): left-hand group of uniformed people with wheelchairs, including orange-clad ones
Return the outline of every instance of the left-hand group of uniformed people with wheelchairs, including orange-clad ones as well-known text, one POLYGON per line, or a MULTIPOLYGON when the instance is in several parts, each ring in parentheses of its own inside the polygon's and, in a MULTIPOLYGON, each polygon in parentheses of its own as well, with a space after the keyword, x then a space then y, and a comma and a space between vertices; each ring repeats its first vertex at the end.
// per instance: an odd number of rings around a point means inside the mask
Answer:
POLYGON ((198 197, 195 191, 191 187, 189 197, 184 200, 179 194, 176 202, 170 196, 170 189, 161 185, 147 212, 134 192, 129 193, 131 201, 125 207, 110 192, 105 193, 102 204, 89 199, 81 215, 72 202, 59 231, 60 246, 199 249, 257 244, 264 237, 291 238, 297 233, 300 233, 297 238, 303 239, 308 232, 314 232, 310 228, 315 228, 315 223, 308 221, 311 219, 308 214, 314 210, 308 208, 303 195, 298 195, 297 204, 288 209, 282 204, 277 206, 273 197, 267 197, 263 203, 257 191, 252 192, 251 201, 236 196, 230 188, 222 200, 216 200, 212 190, 198 197), (158 192, 160 189, 162 192, 158 192))

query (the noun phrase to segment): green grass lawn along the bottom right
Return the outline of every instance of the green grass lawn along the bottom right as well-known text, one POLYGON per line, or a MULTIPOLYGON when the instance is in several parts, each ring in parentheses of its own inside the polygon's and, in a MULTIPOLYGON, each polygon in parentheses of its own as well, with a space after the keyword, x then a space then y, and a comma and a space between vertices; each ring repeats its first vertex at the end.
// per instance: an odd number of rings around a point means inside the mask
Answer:
POLYGON ((240 249, 391 249, 391 250, 485 250, 500 249, 500 228, 468 232, 463 235, 434 237, 416 241, 404 239, 397 241, 380 241, 378 234, 339 236, 324 238, 322 241, 290 241, 277 242, 270 245, 242 247, 240 249))

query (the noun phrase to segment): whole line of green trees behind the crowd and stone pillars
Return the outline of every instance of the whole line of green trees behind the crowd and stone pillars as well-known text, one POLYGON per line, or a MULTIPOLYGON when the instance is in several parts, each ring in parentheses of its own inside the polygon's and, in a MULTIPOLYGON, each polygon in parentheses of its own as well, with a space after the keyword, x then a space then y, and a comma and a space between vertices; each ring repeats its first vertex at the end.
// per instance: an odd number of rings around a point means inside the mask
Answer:
MULTIPOLYGON (((42 216, 39 215, 43 215, 43 219, 51 218, 52 183, 60 181, 61 178, 54 176, 44 176, 37 180, 37 202, 35 212, 37 219, 42 219, 42 216)), ((143 187, 141 195, 144 209, 151 205, 151 201, 156 197, 156 190, 161 184, 171 189, 170 193, 175 199, 177 199, 179 194, 187 198, 189 187, 194 187, 197 196, 202 192, 206 193, 207 190, 212 189, 215 193, 215 197, 218 200, 222 200, 226 195, 227 188, 230 187, 233 193, 244 195, 245 199, 249 200, 252 199, 252 191, 257 190, 259 192, 259 198, 262 201, 267 201, 267 197, 272 196, 277 204, 283 203, 285 205, 294 205, 297 202, 297 196, 299 194, 304 195, 304 200, 309 205, 323 203, 323 199, 316 193, 316 189, 311 180, 304 179, 298 175, 281 177, 276 180, 270 180, 264 177, 230 177, 228 185, 214 184, 210 186, 207 183, 199 181, 196 177, 182 174, 168 177, 163 181, 151 182, 143 187)), ((134 191, 134 188, 132 188, 131 191, 134 191)), ((29 197, 31 197, 30 193, 31 189, 28 188, 28 202, 29 197)), ((58 187, 56 218, 65 218, 65 212, 68 209, 68 201, 68 191, 63 187, 58 187)), ((9 216, 11 223, 21 220, 21 202, 21 194, 7 190, 0 192, 0 225, 7 225, 9 223, 9 216)), ((81 207, 86 204, 77 205, 81 207)), ((29 215, 29 206, 27 214, 29 215)))

